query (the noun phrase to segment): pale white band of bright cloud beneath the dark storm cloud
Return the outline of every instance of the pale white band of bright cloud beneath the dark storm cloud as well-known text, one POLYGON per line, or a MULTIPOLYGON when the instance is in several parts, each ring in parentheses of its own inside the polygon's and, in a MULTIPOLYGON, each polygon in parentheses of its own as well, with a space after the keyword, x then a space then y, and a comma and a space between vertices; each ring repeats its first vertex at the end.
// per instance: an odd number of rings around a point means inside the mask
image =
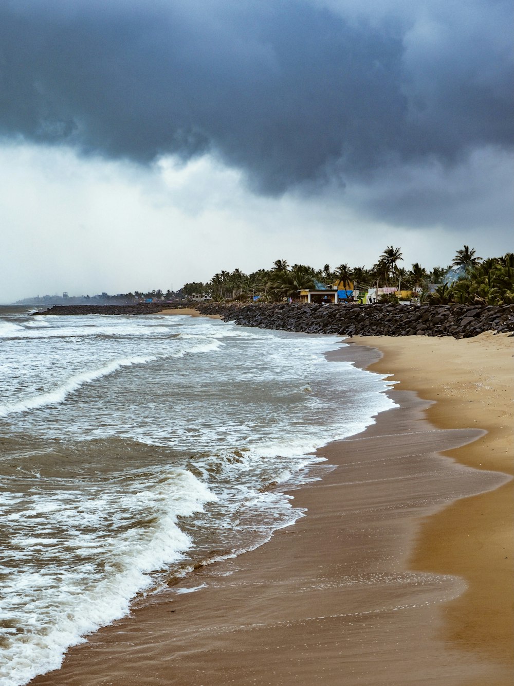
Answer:
POLYGON ((359 192, 368 189, 262 198, 209 157, 144 168, 80 158, 66 148, 3 145, 0 302, 63 291, 176 289, 222 269, 269 268, 278 258, 369 266, 390 244, 402 247, 406 266, 429 268, 448 263, 464 242, 482 257, 507 249, 493 242, 491 253, 491 237, 479 241, 480 232, 371 218, 359 209, 359 192))

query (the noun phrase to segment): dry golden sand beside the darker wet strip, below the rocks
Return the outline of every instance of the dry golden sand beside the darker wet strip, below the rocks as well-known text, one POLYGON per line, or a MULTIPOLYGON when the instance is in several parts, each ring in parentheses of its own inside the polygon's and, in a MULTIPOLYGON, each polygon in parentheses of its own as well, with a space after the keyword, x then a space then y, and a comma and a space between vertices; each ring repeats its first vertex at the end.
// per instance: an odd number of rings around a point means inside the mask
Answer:
MULTIPOLYGON (((356 345, 383 353, 371 370, 393 368, 396 388, 415 389, 434 404, 437 427, 487 430, 449 455, 474 469, 514 475, 514 338, 357 337, 356 345)), ((509 664, 514 673, 514 480, 472 499, 458 500, 424 521, 412 569, 465 578, 467 591, 445 608, 443 635, 470 652, 509 664)))

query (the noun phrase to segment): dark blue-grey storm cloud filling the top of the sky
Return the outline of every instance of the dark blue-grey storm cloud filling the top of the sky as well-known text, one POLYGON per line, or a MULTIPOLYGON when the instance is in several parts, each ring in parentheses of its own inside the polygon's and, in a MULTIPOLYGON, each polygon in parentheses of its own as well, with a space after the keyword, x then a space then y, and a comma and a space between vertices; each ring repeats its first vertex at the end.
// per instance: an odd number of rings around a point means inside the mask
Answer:
POLYGON ((0 132, 143 163, 215 152, 265 193, 452 164, 513 143, 509 5, 472 6, 427 4, 423 24, 297 0, 4 2, 0 132))

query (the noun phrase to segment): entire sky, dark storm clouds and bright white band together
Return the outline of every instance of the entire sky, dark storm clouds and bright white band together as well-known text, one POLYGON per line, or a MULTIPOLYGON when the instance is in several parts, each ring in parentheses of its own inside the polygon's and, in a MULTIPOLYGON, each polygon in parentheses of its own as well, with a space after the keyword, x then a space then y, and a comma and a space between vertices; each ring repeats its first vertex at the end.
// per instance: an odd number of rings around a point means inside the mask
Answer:
POLYGON ((514 251, 504 0, 4 0, 0 302, 514 251))

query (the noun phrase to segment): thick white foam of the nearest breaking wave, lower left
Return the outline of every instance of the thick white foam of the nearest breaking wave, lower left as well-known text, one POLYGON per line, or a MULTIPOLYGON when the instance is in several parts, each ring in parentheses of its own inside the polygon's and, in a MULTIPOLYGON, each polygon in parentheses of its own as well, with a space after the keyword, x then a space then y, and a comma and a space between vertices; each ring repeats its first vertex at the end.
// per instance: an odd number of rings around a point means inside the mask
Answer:
MULTIPOLYGON (((24 632, 22 635, 9 629, 0 632, 8 643, 1 654, 1 686, 25 684, 37 674, 58 669, 66 648, 81 642, 89 632, 126 615, 134 595, 151 586, 149 573, 179 560, 191 545, 189 537, 178 528, 177 517, 199 512, 206 502, 216 499, 191 473, 176 470, 147 490, 119 496, 112 493, 110 497, 90 500, 89 525, 93 524, 94 514, 98 518, 112 514, 115 501, 121 499, 122 508, 131 510, 133 517, 138 512, 151 514, 154 521, 151 527, 125 527, 121 533, 114 532, 107 537, 77 533, 73 536, 74 529, 84 519, 84 512, 76 511, 72 499, 68 507, 60 508, 63 531, 71 532, 67 544, 70 553, 74 548, 75 560, 80 549, 87 559, 93 553, 101 555, 110 566, 104 578, 89 569, 86 561, 68 571, 56 569, 56 576, 52 576, 50 563, 41 572, 29 571, 29 565, 25 571, 20 568, 10 575, 3 588, 5 602, 0 619, 11 623, 14 619, 16 624, 24 626, 24 632)), ((38 507, 35 509, 40 511, 38 507)), ((54 528, 56 521, 59 520, 55 517, 51 520, 54 528)), ((34 523, 40 529, 45 520, 34 523)), ((24 545, 23 535, 22 529, 20 541, 14 539, 14 549, 17 543, 24 545)), ((44 546, 38 546, 43 541, 34 538, 36 549, 41 551, 53 544, 46 539, 44 546)), ((45 554, 44 550, 40 554, 45 554)))

